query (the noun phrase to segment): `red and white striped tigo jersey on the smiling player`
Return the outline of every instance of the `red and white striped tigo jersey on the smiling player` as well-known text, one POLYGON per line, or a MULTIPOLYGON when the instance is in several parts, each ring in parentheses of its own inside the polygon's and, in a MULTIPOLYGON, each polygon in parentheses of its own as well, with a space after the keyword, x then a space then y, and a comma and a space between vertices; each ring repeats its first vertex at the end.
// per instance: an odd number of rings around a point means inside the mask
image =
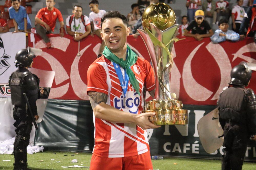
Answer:
MULTIPOLYGON (((120 67, 121 68, 121 67, 120 67)), ((150 63, 142 58, 137 59, 131 66, 140 85, 146 91, 155 89, 154 71, 150 63)), ((124 75, 124 69, 121 68, 124 75)), ((120 81, 113 66, 113 62, 104 56, 90 65, 87 71, 87 92, 96 91, 108 95, 108 105, 131 114, 140 114, 144 106, 144 98, 138 95, 132 84, 128 84, 124 96, 120 81)), ((149 151, 147 132, 134 123, 114 123, 99 118, 94 120, 95 145, 93 153, 102 157, 128 157, 149 151)))

